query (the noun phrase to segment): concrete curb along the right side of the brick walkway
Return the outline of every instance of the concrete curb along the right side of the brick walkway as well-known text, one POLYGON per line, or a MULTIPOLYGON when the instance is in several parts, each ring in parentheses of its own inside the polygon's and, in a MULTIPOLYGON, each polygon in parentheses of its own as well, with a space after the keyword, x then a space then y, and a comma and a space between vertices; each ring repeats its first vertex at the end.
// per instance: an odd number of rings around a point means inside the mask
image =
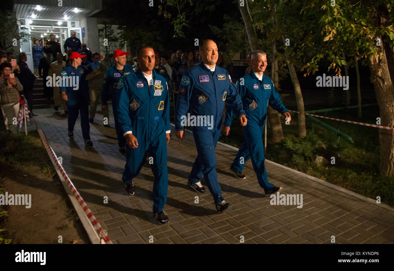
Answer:
MULTIPOLYGON (((174 127, 175 127, 175 125, 172 124, 172 123, 171 123, 171 126, 174 126, 174 127)), ((191 131, 188 130, 188 129, 185 129, 185 131, 187 131, 187 132, 193 134, 193 132, 191 132, 191 131)), ((232 149, 232 150, 238 151, 238 148, 233 147, 233 146, 230 146, 230 145, 225 144, 225 143, 222 143, 222 142, 220 142, 220 141, 217 141, 217 144, 222 145, 222 146, 227 147, 227 148, 230 148, 230 149, 232 149)), ((360 194, 358 194, 358 193, 355 193, 355 192, 350 191, 350 190, 348 190, 348 189, 345 189, 345 188, 343 188, 343 187, 336 186, 335 184, 331 184, 331 183, 329 183, 329 182, 320 180, 319 178, 310 176, 310 175, 305 174, 305 173, 303 173, 303 172, 296 171, 295 169, 291 169, 290 167, 285 167, 284 165, 281 165, 281 164, 278 164, 278 163, 275 163, 275 162, 269 161, 269 160, 266 160, 266 162, 269 163, 269 164, 271 164, 271 165, 275 165, 275 166, 277 166, 277 167, 280 167, 280 168, 282 168, 282 169, 287 169, 288 171, 290 171, 290 172, 292 172, 292 173, 298 174, 299 176, 303 176, 303 177, 305 177, 305 178, 308 178, 309 180, 312 180, 312 181, 314 181, 314 182, 318 182, 319 184, 323 184, 324 186, 328 186, 328 187, 330 187, 330 188, 332 188, 332 189, 335 189, 335 190, 340 191, 340 192, 342 192, 342 193, 345 193, 345 194, 348 194, 348 195, 350 195, 350 196, 353 196, 353 197, 355 197, 355 198, 357 198, 357 199, 364 200, 364 201, 366 201, 366 202, 368 202, 368 203, 375 204, 375 205, 380 206, 380 207, 383 207, 383 208, 385 208, 385 209, 387 209, 387 210, 389 210, 389 211, 391 211, 391 212, 394 212, 394 208, 391 207, 391 206, 389 206, 388 204, 385 204, 385 203, 379 203, 379 204, 378 204, 378 203, 376 203, 376 200, 374 200, 374 199, 365 197, 365 196, 363 196, 363 195, 360 195, 360 194)))

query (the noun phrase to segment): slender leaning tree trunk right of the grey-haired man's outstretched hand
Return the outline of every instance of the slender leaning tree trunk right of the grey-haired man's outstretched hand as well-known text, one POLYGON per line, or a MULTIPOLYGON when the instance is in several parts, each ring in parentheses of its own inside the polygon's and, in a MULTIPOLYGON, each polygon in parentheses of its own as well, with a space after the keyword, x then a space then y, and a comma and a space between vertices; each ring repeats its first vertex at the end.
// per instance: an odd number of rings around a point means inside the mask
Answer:
MULTIPOLYGON (((284 43, 284 35, 282 35, 283 43, 284 43)), ((297 78, 296 69, 294 65, 290 65, 290 58, 287 53, 287 48, 284 49, 284 55, 286 56, 287 67, 289 68, 290 77, 292 78, 294 93, 296 94, 296 101, 297 101, 297 110, 301 113, 305 112, 304 108, 304 99, 302 98, 301 87, 299 85, 299 81, 297 78)), ((299 130, 299 137, 307 136, 307 128, 305 126, 305 115, 298 114, 298 130, 299 130)))

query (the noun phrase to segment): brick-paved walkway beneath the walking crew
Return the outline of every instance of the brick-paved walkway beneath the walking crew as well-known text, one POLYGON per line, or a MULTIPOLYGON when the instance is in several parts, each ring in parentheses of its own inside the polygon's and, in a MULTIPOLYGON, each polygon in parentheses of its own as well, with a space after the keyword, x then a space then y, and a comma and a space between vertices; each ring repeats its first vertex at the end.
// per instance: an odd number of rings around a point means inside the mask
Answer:
MULTIPOLYGON (((100 106, 99 106, 100 108, 100 106)), ((110 114, 112 109, 110 108, 110 114)), ((359 200, 266 163, 269 181, 282 186, 281 193, 303 194, 303 208, 270 205, 270 198, 258 185, 251 161, 245 165, 246 180, 236 179, 229 169, 235 150, 217 145, 217 173, 223 197, 232 204, 217 214, 212 197, 198 194, 186 185, 197 156, 193 136, 184 141, 171 132, 168 145, 169 186, 164 208, 170 223, 158 225, 152 214, 153 175, 149 163, 134 179, 136 193, 126 194, 121 176, 125 155, 119 154, 113 117, 104 128, 99 113, 90 126, 93 147, 85 146, 80 119, 74 139, 67 136, 67 119, 53 108, 37 109, 39 127, 63 167, 113 243, 394 243, 394 212, 359 200), (108 196, 108 204, 103 197, 108 196), (195 204, 195 196, 199 203, 195 204)), ((32 125, 30 128, 33 128, 32 125)), ((204 180, 202 183, 205 185, 204 180)))

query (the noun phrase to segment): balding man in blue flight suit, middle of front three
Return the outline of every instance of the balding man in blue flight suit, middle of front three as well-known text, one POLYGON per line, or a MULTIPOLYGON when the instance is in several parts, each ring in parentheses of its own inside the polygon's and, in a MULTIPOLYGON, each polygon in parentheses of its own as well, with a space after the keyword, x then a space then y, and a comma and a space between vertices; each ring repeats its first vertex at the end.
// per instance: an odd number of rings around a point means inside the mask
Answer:
MULTIPOLYGON (((197 158, 191 169, 188 186, 199 193, 205 192, 201 185, 201 177, 211 192, 217 212, 223 212, 229 207, 221 195, 216 172, 216 143, 219 140, 222 124, 222 114, 225 100, 237 115, 240 115, 241 125, 247 124, 242 101, 231 82, 229 72, 216 66, 218 57, 217 45, 211 39, 200 44, 200 54, 203 58, 198 65, 189 69, 182 77, 178 90, 177 108, 175 113, 175 134, 178 139, 184 138, 186 113, 190 110, 190 126, 197 147, 197 158), (204 120, 205 118, 205 120, 204 120), (199 119, 197 123, 192 119, 199 119)), ((189 122, 189 121, 188 121, 189 122)))

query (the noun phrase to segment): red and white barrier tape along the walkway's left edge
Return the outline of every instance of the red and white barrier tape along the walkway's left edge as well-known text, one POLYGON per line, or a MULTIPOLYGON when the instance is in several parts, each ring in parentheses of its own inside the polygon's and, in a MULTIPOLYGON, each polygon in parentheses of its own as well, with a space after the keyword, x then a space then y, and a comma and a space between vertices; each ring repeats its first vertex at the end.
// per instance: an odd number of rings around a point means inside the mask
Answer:
POLYGON ((86 216, 89 218, 89 221, 92 223, 93 228, 95 228, 95 230, 97 231, 97 234, 99 234, 101 240, 104 241, 104 243, 106 243, 106 244, 112 244, 112 241, 110 240, 110 238, 107 235, 107 231, 104 230, 100 226, 100 223, 97 221, 96 217, 93 215, 93 213, 91 212, 89 207, 87 207, 84 199, 82 199, 81 195, 76 190, 74 184, 72 184, 69 176, 67 176, 67 173, 63 169, 63 166, 59 163, 59 160, 56 157, 56 154, 55 154, 54 150, 52 149, 52 147, 50 147, 48 141, 46 140, 46 138, 45 138, 45 136, 43 134, 43 132, 41 132, 41 130, 38 128, 38 125, 37 125, 37 122, 35 121, 35 118, 33 118, 33 120, 34 120, 35 127, 37 128, 37 132, 40 135, 41 140, 43 141, 43 144, 44 144, 44 146, 46 148, 46 151, 49 154, 49 157, 50 157, 52 163, 58 169, 57 171, 60 172, 61 175, 62 175, 62 176, 59 176, 59 177, 60 178, 63 177, 65 182, 67 182, 67 186, 70 188, 70 190, 72 192, 72 195, 74 195, 76 200, 78 200, 79 205, 82 207, 82 210, 84 210, 86 216))

